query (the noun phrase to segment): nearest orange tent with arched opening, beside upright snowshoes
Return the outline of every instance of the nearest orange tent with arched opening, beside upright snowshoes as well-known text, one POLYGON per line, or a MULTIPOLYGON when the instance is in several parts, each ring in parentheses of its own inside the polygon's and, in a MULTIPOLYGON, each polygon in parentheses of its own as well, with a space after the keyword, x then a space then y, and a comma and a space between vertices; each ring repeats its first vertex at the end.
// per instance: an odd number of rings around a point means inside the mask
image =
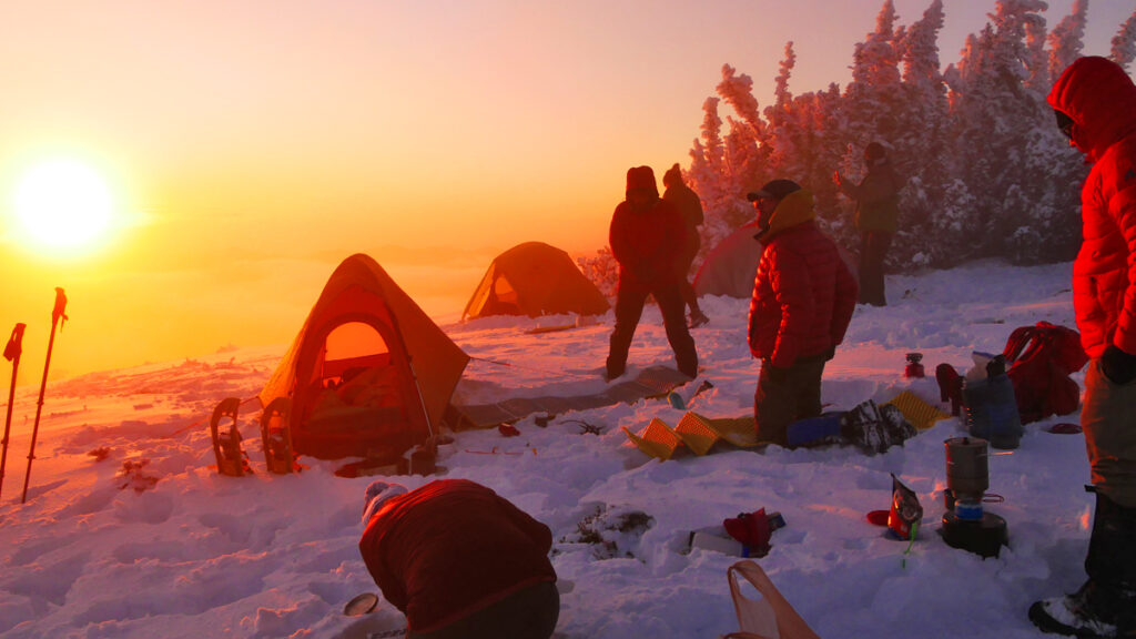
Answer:
POLYGON ((332 273, 260 391, 291 399, 296 453, 393 460, 436 434, 469 357, 370 257, 332 273))

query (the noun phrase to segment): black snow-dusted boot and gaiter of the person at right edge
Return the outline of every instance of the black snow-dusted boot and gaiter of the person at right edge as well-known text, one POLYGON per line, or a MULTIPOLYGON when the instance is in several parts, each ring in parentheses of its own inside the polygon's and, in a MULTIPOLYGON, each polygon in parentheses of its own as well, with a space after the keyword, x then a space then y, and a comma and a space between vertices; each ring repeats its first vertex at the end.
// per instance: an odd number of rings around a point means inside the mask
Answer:
POLYGON ((1077 592, 1036 601, 1029 620, 1068 637, 1136 638, 1136 508, 1096 493, 1085 572, 1077 592))

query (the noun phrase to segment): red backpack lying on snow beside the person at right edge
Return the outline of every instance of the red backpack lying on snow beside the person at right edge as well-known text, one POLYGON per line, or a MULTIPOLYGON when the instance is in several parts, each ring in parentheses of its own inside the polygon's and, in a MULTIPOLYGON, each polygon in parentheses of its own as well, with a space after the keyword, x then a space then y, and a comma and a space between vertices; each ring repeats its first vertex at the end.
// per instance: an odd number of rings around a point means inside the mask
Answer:
POLYGON ((1022 424, 1077 409, 1080 387, 1069 375, 1088 362, 1077 331, 1049 322, 1021 326, 1010 333, 1002 355, 1022 424))

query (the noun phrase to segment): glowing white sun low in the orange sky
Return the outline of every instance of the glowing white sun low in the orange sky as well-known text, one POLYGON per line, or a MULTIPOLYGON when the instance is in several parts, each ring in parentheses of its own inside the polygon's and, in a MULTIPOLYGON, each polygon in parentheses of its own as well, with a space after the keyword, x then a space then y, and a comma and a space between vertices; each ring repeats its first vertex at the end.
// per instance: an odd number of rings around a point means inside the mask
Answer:
POLYGON ((107 233, 115 202, 89 165, 51 159, 32 166, 16 186, 15 213, 28 236, 55 249, 89 249, 107 233))

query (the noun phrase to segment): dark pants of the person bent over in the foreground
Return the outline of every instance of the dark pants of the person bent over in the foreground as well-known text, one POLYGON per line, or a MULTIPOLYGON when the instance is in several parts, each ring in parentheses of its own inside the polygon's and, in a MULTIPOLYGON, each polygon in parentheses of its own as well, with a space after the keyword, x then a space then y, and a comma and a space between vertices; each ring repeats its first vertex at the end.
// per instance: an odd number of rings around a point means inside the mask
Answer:
POLYGON ((559 617, 560 592, 545 581, 434 632, 408 632, 407 639, 549 639, 559 617))

